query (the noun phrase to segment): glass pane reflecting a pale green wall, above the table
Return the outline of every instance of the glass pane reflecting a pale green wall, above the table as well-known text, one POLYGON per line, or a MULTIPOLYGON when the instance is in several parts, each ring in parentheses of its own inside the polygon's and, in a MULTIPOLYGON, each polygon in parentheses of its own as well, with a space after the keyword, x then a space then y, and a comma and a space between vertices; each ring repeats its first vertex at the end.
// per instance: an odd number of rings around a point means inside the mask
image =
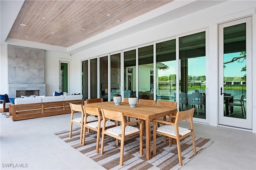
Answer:
POLYGON ((154 100, 153 45, 138 49, 139 99, 154 100))

